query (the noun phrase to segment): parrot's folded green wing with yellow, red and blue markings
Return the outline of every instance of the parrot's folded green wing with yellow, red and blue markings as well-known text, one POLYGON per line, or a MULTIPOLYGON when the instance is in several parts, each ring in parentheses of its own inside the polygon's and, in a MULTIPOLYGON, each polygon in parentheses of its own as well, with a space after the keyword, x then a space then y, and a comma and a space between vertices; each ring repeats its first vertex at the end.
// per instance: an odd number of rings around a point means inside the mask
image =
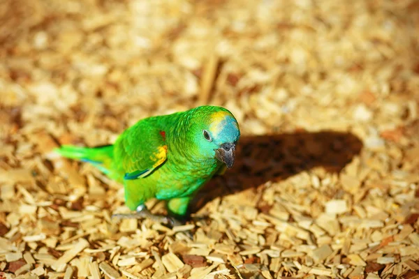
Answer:
POLYGON ((124 179, 139 179, 151 174, 167 158, 166 133, 139 122, 117 141, 119 167, 124 179))

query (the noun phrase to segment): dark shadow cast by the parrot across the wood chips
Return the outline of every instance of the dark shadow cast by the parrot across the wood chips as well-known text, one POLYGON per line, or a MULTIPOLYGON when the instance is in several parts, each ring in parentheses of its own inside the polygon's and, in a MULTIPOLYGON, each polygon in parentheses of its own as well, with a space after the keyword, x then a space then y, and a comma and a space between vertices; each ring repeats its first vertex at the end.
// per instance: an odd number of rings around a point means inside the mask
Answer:
POLYGON ((216 197, 281 181, 314 167, 339 173, 361 149, 362 142, 355 135, 329 130, 241 137, 234 167, 197 193, 191 213, 216 197))

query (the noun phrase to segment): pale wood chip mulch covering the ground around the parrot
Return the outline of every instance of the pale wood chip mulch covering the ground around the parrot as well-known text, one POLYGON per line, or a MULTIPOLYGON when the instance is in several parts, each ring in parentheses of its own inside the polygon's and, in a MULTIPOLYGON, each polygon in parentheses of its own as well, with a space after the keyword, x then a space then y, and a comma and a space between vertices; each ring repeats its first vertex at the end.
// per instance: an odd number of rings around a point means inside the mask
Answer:
POLYGON ((0 278, 419 278, 418 33, 413 0, 3 1, 0 278), (180 227, 51 153, 207 103, 237 163, 180 227))

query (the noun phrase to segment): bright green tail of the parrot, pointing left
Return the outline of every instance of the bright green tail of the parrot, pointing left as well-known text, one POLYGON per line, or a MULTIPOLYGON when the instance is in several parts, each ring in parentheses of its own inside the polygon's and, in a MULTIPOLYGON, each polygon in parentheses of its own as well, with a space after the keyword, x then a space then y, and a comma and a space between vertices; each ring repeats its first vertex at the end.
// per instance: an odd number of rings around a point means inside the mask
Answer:
POLYGON ((108 174, 110 172, 110 163, 113 158, 113 145, 97 146, 97 147, 80 147, 73 145, 62 145, 55 152, 59 155, 88 162, 101 169, 102 172, 108 174))

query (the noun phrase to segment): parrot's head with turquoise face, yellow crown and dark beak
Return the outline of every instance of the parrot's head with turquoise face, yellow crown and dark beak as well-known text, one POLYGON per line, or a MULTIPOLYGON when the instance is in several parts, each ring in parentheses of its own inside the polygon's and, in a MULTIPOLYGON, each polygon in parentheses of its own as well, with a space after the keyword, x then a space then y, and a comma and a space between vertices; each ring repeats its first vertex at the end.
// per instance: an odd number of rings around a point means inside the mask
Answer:
POLYGON ((223 107, 202 106, 194 113, 193 142, 199 150, 199 156, 216 158, 229 169, 235 160, 235 146, 240 137, 237 120, 223 107))

